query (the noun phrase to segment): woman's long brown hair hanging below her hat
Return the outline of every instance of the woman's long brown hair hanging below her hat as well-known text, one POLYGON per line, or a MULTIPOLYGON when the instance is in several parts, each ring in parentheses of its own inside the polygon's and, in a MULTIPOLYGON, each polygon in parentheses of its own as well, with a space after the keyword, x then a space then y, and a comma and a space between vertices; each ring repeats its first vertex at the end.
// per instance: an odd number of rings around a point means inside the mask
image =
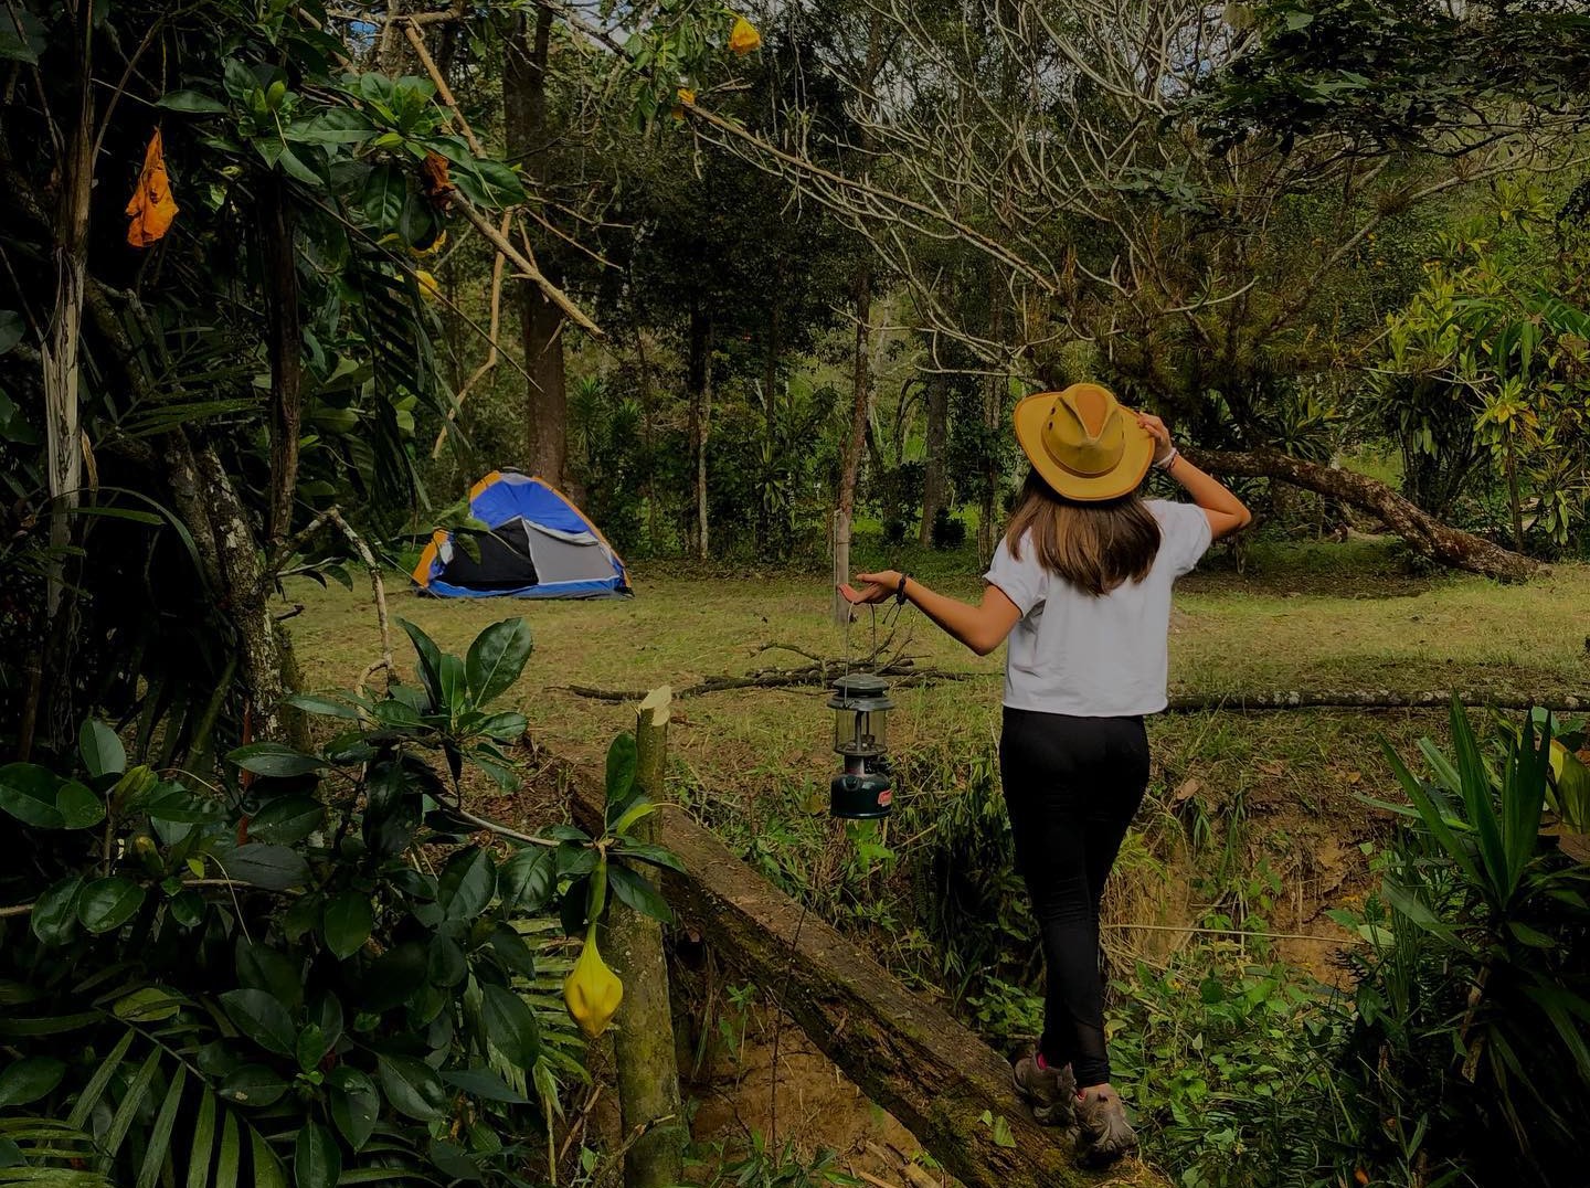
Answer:
POLYGON ((1029 471, 1005 530, 1005 542, 1018 561, 1024 538, 1038 550, 1038 565, 1097 598, 1121 582, 1148 576, 1159 553, 1159 520, 1137 491, 1076 503, 1056 495, 1037 471, 1029 471))

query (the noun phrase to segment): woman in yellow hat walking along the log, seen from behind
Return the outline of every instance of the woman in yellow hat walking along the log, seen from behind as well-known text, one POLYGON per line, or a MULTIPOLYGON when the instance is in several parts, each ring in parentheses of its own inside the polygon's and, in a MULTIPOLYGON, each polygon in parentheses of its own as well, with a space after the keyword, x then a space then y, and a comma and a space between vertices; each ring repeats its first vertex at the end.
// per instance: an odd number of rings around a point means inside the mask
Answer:
POLYGON ((1045 1124, 1078 1128, 1092 1167, 1135 1148, 1110 1086, 1099 902, 1148 786, 1143 716, 1165 708, 1170 587, 1251 518, 1170 444, 1158 417, 1094 383, 1016 406, 1032 463, 978 606, 894 569, 841 587, 852 603, 914 603, 978 655, 1010 636, 1000 778, 1016 860, 1043 932, 1043 1037, 1016 1089, 1045 1124), (1192 503, 1145 501, 1150 464, 1192 503))

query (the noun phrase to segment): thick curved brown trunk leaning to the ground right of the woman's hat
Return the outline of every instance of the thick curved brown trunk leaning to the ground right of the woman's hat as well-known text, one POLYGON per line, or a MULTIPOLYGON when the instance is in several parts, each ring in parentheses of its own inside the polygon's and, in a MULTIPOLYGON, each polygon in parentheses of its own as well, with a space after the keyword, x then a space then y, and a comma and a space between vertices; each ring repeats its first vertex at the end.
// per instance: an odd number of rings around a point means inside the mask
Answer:
POLYGON ((1350 507, 1372 512, 1407 545, 1433 561, 1456 569, 1518 582, 1530 577, 1539 563, 1499 544, 1441 523, 1412 501, 1404 499, 1383 482, 1353 471, 1302 461, 1278 450, 1183 450, 1192 463, 1213 474, 1278 479, 1320 495, 1329 495, 1350 507))

